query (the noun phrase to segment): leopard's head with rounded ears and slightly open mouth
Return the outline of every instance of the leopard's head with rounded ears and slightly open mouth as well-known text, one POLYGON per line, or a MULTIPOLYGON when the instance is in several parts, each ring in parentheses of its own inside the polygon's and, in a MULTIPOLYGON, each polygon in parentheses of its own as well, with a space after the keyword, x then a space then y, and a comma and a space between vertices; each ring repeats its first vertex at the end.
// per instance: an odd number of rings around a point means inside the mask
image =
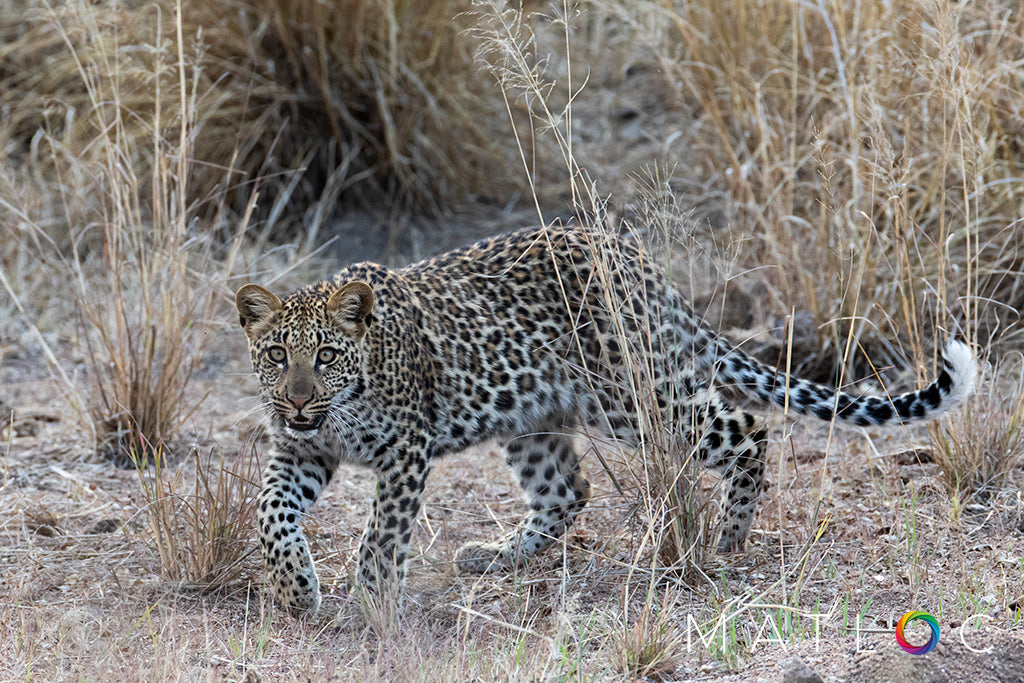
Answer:
POLYGON ((336 396, 348 400, 364 390, 362 341, 374 307, 366 283, 300 290, 284 301, 246 285, 234 305, 263 397, 293 433, 315 433, 336 396))

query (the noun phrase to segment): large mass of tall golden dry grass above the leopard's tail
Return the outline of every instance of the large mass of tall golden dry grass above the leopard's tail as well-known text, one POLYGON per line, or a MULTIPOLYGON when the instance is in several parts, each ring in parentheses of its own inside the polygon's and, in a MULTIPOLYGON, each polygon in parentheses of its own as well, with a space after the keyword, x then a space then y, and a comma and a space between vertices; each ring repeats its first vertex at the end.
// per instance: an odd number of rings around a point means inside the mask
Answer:
POLYGON ((679 201, 709 231, 742 237, 739 266, 762 268, 777 313, 810 315, 796 373, 920 359, 950 321, 986 342, 1019 333, 1024 93, 1007 55, 1024 50, 1024 14, 930 0, 592 4, 653 47, 693 117, 675 142, 679 201), (851 334, 865 353, 844 358, 851 334))

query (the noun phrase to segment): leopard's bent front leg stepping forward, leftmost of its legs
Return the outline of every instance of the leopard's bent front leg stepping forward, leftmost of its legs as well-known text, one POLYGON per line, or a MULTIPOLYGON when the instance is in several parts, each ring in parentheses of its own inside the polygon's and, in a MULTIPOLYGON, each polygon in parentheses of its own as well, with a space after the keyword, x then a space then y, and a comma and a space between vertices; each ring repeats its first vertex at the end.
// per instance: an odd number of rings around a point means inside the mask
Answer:
POLYGON ((321 460, 301 460, 271 451, 257 498, 263 562, 276 600, 293 614, 314 613, 319 584, 299 517, 311 506, 333 471, 321 460))

